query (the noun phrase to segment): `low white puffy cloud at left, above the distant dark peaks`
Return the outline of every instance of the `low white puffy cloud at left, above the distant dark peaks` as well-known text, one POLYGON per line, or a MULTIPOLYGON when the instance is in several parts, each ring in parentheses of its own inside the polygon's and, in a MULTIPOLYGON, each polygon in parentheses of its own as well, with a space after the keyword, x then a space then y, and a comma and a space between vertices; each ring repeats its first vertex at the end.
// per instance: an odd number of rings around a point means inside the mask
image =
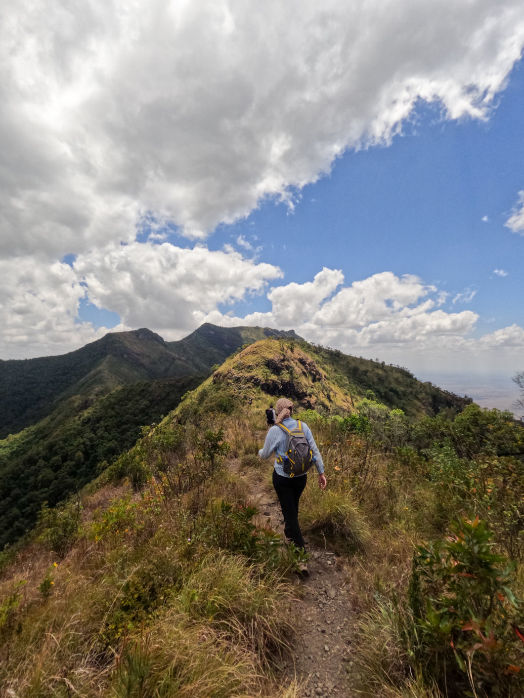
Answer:
POLYGON ((81 299, 118 313, 113 331, 152 327, 179 339, 208 313, 260 294, 282 272, 240 253, 133 242, 78 255, 72 265, 0 262, 0 357, 59 354, 103 336, 78 320, 81 299))

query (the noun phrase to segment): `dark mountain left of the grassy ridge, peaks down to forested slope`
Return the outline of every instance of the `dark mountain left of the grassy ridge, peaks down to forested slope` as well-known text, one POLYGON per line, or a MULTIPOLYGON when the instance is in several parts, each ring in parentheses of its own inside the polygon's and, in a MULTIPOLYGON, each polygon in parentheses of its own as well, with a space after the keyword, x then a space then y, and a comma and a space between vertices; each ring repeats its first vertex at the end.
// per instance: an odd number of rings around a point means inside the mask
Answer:
POLYGON ((150 329, 113 332, 63 356, 0 362, 0 549, 126 452, 140 427, 173 410, 214 364, 267 336, 203 325, 177 342, 150 329))

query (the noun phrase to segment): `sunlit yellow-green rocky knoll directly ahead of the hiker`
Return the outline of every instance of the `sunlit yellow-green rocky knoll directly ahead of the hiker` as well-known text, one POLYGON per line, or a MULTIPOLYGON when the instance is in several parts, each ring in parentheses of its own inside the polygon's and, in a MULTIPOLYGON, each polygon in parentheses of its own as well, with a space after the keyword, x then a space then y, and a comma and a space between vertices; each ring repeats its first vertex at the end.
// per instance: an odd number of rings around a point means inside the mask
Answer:
MULTIPOLYGON (((305 341, 268 339, 232 355, 180 409, 189 414, 219 412, 217 405, 247 401, 263 409, 270 399, 286 396, 303 410, 323 415, 354 412, 363 398, 400 409, 408 417, 459 413, 472 401, 421 383, 400 366, 342 354, 305 341)), ((184 417, 185 419, 185 417, 184 417)))

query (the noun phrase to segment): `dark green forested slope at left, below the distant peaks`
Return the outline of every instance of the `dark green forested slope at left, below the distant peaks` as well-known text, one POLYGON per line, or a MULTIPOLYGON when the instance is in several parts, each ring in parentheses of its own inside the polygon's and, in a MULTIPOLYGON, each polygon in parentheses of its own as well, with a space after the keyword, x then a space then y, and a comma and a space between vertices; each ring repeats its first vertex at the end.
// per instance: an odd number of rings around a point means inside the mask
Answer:
POLYGON ((0 441, 0 549, 34 526, 43 502, 53 507, 84 487, 100 463, 114 463, 136 443, 145 422, 159 421, 198 382, 129 385, 88 405, 71 399, 43 422, 0 441))

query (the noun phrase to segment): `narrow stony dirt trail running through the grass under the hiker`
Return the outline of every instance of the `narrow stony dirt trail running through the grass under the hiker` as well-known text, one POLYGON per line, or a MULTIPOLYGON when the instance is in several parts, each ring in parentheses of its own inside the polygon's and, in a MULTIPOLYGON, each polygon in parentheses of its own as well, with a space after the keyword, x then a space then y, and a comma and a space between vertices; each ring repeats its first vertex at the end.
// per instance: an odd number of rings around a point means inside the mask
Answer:
MULTIPOLYGON (((247 484, 252 503, 259 509, 261 523, 284 535, 284 519, 275 494, 262 471, 242 468, 232 460, 229 468, 247 484)), ((268 468, 270 464, 268 462, 268 468)), ((307 487, 317 487, 316 473, 308 478, 307 487)), ((307 537, 306 537, 307 538, 307 537)), ((306 540, 307 542, 307 540, 306 540)), ((282 667, 284 678, 296 678, 303 685, 300 696, 352 698, 349 678, 353 669, 349 635, 349 590, 342 558, 324 548, 307 544, 310 576, 298 579, 304 597, 297 614, 294 662, 282 667)))

